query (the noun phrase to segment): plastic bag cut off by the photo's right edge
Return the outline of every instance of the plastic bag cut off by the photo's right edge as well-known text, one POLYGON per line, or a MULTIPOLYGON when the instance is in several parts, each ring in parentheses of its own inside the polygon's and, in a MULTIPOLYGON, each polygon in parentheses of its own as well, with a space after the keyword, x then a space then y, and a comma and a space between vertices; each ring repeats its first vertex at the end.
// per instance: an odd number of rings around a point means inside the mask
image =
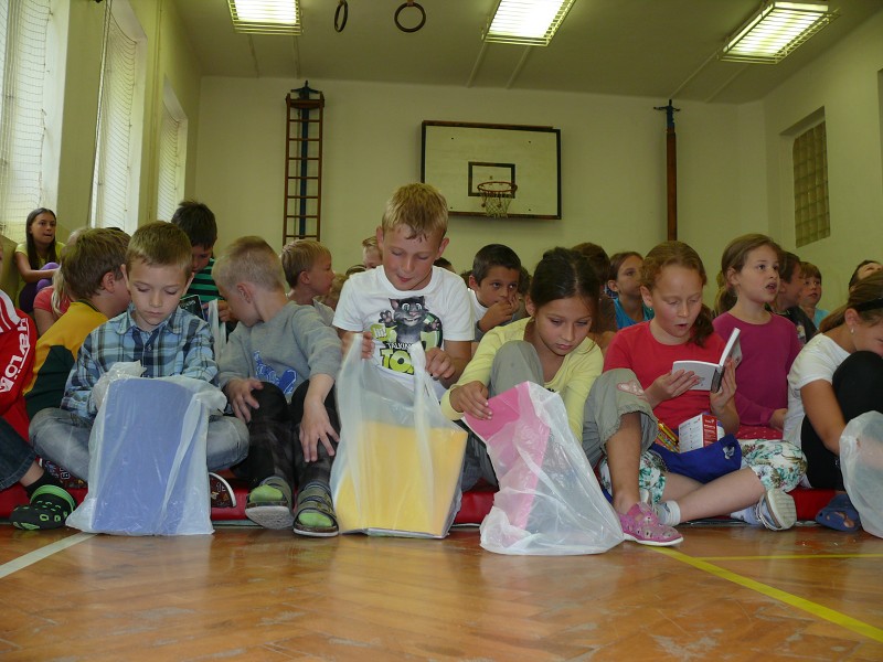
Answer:
POLYGON ((866 412, 840 436, 840 470, 862 528, 883 537, 883 414, 866 412))

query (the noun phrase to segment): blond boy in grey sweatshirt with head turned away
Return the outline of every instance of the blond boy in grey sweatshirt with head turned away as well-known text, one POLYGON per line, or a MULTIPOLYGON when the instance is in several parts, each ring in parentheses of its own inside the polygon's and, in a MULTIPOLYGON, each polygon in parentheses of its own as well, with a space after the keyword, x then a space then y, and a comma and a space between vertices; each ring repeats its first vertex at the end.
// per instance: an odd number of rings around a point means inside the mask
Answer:
POLYGON ((212 275, 240 320, 219 382, 248 424, 248 459, 237 469, 252 482, 245 514, 268 528, 337 535, 330 480, 340 430, 333 393, 340 339, 313 307, 288 300, 279 258, 260 237, 236 239, 212 275))

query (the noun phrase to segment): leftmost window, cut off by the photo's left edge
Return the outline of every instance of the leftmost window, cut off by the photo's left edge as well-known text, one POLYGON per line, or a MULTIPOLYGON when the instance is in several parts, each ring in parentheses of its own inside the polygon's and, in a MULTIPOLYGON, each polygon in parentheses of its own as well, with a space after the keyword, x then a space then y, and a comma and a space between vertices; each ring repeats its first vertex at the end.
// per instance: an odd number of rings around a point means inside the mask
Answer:
POLYGON ((44 190, 50 0, 0 2, 0 232, 24 241, 44 190))

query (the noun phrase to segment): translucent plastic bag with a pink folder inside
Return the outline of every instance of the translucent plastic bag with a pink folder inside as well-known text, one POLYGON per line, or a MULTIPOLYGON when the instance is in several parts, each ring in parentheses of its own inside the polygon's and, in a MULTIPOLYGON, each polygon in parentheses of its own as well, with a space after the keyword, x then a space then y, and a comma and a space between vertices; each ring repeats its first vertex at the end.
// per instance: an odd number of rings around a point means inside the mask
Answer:
POLYGON ((567 423, 561 396, 524 382, 490 399, 491 420, 467 417, 488 447, 500 491, 481 523, 498 554, 599 554, 623 527, 567 423))

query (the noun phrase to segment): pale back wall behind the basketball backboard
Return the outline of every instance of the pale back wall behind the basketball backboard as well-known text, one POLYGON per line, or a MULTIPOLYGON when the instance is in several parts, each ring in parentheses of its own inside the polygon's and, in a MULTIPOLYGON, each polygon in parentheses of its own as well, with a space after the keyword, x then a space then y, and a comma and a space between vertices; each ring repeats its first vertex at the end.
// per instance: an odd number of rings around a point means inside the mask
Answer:
MULTIPOLYGON (((302 81, 206 77, 202 83, 196 195, 214 210, 223 246, 243 234, 281 243, 285 95, 302 81)), ((322 242, 338 269, 361 260, 385 201, 419 181, 424 119, 553 126, 562 135, 560 221, 454 216, 447 257, 471 267, 482 245, 502 242, 532 268, 545 248, 592 241, 608 253, 647 252, 666 238, 666 118, 661 99, 313 81, 326 97, 322 242)), ((710 257, 721 228, 743 221, 736 151, 753 162, 763 143, 740 140, 740 108, 683 104, 675 116, 680 238, 710 257)), ((444 193, 444 191, 443 191, 444 193)), ((747 196, 756 212, 757 196, 747 196)), ((765 209, 760 205, 760 209, 765 209)), ((716 267, 715 267, 716 268, 716 267)))

